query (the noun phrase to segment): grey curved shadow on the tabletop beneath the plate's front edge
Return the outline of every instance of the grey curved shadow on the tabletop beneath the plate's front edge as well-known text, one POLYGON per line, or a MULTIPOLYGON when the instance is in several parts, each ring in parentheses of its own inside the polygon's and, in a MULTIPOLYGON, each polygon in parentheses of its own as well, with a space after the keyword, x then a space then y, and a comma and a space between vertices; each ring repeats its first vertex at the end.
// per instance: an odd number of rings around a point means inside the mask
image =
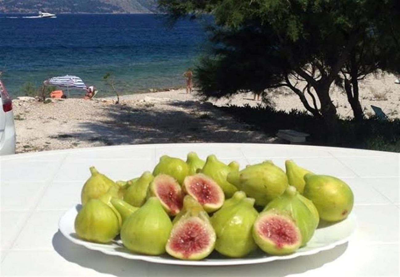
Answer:
POLYGON ((345 243, 310 256, 254 265, 200 267, 150 264, 106 255, 75 245, 60 231, 54 234, 52 243, 56 252, 67 261, 117 276, 286 276, 322 267, 340 257, 348 247, 348 243, 345 243))

